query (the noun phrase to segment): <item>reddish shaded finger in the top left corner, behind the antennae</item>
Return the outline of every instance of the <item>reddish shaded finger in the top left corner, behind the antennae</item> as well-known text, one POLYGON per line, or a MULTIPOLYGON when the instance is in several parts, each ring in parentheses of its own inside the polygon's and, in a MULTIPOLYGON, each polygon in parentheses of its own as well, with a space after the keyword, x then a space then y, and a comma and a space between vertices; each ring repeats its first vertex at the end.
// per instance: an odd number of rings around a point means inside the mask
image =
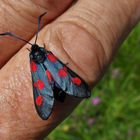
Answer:
MULTIPOLYGON (((13 32, 29 40, 37 31, 37 17, 47 11, 42 26, 59 16, 72 0, 0 1, 0 33, 13 32)), ((0 36, 0 68, 25 44, 12 37, 0 36), (8 50, 8 51, 7 51, 8 50)))

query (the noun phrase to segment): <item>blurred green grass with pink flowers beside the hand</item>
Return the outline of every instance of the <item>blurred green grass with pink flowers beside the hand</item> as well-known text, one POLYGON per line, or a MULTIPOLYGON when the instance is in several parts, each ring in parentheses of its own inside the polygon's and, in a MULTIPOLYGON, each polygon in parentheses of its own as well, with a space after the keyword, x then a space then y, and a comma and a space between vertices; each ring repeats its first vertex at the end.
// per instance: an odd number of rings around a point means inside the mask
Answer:
POLYGON ((140 24, 103 80, 47 140, 140 140, 140 24), (92 99, 101 103, 93 105, 92 99))

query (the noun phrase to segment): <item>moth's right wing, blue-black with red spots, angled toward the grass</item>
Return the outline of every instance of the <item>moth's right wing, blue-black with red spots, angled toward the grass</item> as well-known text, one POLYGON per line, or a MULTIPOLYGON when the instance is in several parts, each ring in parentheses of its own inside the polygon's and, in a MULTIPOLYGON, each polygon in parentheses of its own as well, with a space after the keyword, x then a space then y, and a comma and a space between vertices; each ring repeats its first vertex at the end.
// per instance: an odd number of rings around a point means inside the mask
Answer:
POLYGON ((51 52, 47 52, 45 67, 51 72, 54 81, 69 95, 88 98, 91 95, 88 85, 76 73, 58 60, 51 52))

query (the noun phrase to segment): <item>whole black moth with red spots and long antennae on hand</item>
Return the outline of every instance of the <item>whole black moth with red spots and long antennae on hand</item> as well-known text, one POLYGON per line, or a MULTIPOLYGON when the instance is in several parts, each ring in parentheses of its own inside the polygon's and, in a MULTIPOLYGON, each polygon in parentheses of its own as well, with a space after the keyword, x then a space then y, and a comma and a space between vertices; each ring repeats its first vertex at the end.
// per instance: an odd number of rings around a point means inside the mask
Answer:
POLYGON ((36 44, 40 31, 41 18, 38 17, 38 31, 35 43, 22 39, 21 37, 5 32, 1 36, 12 36, 30 44, 31 50, 30 65, 33 83, 33 95, 36 110, 43 120, 47 120, 53 110, 54 101, 64 102, 66 94, 79 98, 88 98, 91 95, 90 89, 85 81, 75 72, 68 68, 67 64, 56 58, 52 52, 36 44))

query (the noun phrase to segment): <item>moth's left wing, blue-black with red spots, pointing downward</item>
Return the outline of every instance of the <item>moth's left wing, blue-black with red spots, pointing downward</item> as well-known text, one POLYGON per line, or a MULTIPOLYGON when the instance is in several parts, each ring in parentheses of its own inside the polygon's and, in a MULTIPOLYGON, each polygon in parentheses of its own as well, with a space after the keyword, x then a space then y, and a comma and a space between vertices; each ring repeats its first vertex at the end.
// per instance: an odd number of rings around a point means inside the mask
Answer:
POLYGON ((46 120, 49 118, 54 104, 52 87, 43 65, 32 60, 30 60, 30 64, 35 107, 39 116, 46 120))

